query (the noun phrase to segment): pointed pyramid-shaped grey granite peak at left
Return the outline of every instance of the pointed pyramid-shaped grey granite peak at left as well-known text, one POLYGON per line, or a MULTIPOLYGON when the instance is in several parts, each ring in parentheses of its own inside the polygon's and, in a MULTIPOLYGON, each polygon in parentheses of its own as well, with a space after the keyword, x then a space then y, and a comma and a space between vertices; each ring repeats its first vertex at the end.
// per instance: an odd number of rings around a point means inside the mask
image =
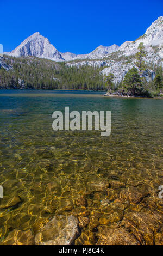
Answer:
POLYGON ((15 50, 8 54, 15 57, 35 56, 55 61, 64 60, 60 52, 40 32, 30 35, 15 50))

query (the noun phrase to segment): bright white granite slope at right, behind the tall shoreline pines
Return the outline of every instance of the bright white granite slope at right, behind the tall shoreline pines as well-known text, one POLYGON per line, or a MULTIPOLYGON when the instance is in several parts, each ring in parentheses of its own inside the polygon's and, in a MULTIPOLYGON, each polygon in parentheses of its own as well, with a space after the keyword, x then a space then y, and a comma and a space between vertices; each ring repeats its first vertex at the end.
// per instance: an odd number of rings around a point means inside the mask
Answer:
MULTIPOLYGON (((108 75, 110 72, 116 77, 114 82, 121 82, 130 68, 135 66, 135 54, 138 51, 140 43, 145 46, 146 56, 144 61, 147 66, 159 65, 163 67, 163 16, 154 21, 146 30, 145 34, 135 41, 124 42, 116 52, 108 54, 101 60, 82 60, 67 63, 68 66, 106 66, 101 71, 102 75, 108 75)), ((136 66, 135 66, 136 67, 136 66)), ((155 74, 151 68, 144 71, 143 76, 147 82, 153 80, 155 74)))

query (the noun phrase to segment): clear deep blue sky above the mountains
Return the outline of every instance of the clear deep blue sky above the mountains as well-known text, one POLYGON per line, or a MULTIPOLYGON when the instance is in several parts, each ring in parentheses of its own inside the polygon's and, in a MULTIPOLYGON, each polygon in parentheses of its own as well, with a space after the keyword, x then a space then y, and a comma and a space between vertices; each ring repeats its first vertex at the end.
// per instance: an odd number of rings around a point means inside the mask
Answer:
POLYGON ((60 52, 89 53, 144 34, 163 0, 0 0, 0 43, 8 52, 40 32, 60 52))

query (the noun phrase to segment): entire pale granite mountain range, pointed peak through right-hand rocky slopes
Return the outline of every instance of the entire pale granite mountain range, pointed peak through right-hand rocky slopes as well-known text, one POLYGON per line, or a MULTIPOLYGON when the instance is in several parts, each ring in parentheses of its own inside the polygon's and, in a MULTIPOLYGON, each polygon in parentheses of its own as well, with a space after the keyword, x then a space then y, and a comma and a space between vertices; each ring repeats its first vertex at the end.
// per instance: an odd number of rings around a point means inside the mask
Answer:
MULTIPOLYGON (((135 41, 126 41, 120 47, 117 45, 100 45, 89 54, 61 53, 50 44, 47 38, 36 32, 24 40, 15 50, 5 54, 15 57, 46 58, 56 62, 66 62, 66 66, 103 67, 102 75, 108 75, 109 72, 112 72, 116 77, 114 82, 121 82, 127 71, 135 66, 135 54, 141 42, 145 46, 146 56, 144 60, 147 66, 163 66, 163 16, 154 21, 140 38, 135 41)), ((147 81, 154 78, 152 68, 148 68, 145 73, 147 81)))

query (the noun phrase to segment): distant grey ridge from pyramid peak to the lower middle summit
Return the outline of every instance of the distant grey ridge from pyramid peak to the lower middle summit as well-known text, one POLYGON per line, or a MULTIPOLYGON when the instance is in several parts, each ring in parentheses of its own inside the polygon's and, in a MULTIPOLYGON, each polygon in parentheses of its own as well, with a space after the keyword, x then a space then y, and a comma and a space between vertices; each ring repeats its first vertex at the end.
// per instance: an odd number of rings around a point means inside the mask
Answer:
POLYGON ((39 32, 30 35, 25 39, 15 50, 11 52, 5 52, 9 56, 21 57, 21 56, 35 56, 39 58, 46 58, 54 60, 55 62, 67 61, 72 59, 95 59, 103 58, 106 55, 117 51, 119 46, 98 46, 94 51, 88 54, 75 54, 71 52, 59 52, 47 38, 42 36, 39 32))

